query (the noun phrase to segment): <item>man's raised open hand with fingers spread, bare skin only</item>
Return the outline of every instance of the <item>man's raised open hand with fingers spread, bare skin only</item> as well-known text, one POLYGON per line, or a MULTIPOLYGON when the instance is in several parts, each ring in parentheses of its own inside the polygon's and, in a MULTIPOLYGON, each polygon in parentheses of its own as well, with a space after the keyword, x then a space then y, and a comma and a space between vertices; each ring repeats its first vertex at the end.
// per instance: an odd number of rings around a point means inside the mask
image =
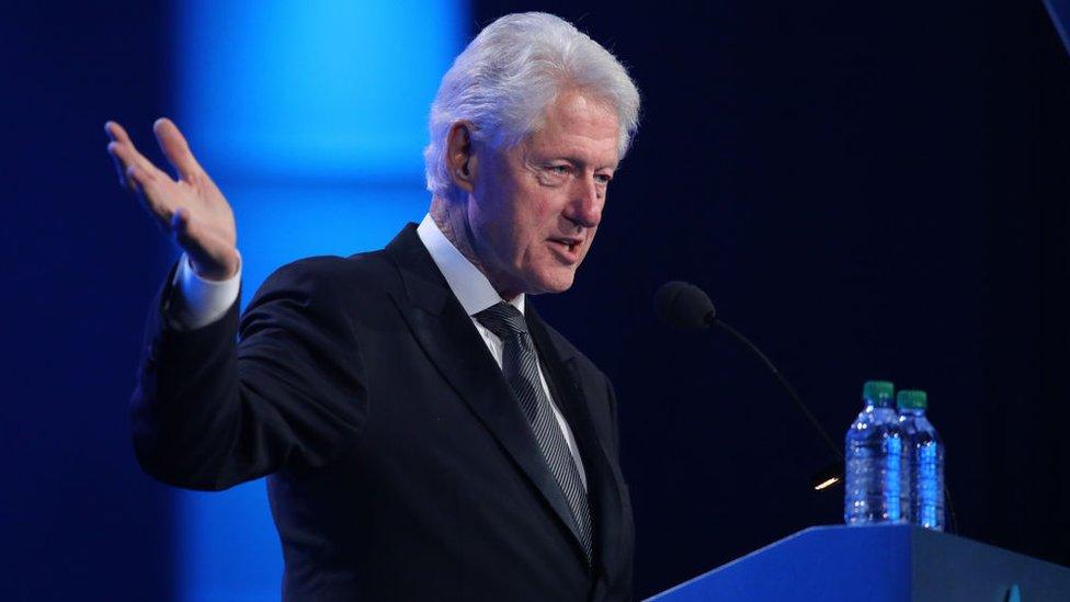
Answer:
POLYGON ((227 200, 190 151, 179 128, 168 118, 152 125, 174 180, 145 158, 123 126, 104 124, 119 184, 137 195, 175 242, 190 255, 193 270, 208 280, 226 280, 238 272, 238 231, 227 200))

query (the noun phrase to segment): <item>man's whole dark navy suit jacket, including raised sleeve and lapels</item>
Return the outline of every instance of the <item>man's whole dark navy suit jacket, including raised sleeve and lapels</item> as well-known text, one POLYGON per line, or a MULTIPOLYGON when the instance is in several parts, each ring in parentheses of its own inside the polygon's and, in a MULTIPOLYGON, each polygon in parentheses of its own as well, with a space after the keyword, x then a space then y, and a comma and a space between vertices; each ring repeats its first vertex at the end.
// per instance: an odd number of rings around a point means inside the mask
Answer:
POLYGON ((631 599, 610 382, 527 305, 588 475, 588 567, 527 420, 414 224, 380 251, 280 269, 240 321, 235 303, 205 328, 171 328, 170 293, 149 313, 132 400, 138 461, 192 489, 268 476, 287 600, 631 599))

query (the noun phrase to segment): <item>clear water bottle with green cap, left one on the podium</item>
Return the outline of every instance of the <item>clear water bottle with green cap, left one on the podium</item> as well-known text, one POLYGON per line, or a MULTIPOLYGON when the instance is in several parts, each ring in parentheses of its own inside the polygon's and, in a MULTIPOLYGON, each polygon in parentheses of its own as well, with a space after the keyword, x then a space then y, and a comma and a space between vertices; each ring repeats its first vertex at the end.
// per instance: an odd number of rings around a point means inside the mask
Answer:
POLYGON ((891 383, 867 382, 865 408, 847 429, 843 520, 849 525, 909 519, 910 464, 895 391, 891 383))

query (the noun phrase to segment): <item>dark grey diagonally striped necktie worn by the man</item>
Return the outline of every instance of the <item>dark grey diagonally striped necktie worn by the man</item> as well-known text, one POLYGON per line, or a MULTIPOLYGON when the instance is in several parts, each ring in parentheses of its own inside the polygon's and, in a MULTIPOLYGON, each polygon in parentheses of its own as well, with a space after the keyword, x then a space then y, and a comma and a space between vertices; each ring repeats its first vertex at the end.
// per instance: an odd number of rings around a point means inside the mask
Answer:
POLYGON ((523 314, 512 305, 500 302, 476 314, 476 319, 488 330, 493 332, 504 343, 502 353, 502 372, 505 380, 513 389, 521 408, 527 416, 532 432, 543 458, 557 479, 572 511, 580 543, 587 554, 588 564, 591 561, 591 510, 587 501, 587 491, 580 480, 580 472, 576 461, 565 441, 554 417, 550 400, 543 389, 538 378, 538 355, 527 332, 527 322, 523 314))

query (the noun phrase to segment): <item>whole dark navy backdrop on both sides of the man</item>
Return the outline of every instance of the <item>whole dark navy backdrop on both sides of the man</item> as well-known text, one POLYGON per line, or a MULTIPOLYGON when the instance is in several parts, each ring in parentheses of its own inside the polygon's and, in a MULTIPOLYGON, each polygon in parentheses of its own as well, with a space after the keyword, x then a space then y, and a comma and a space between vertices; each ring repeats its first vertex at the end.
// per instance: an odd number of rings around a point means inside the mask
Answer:
MULTIPOLYGON (((960 532, 1070 564, 1070 60, 1043 5, 705 4, 538 7, 645 93, 577 285, 535 300, 621 395, 638 593, 842 503, 807 489, 824 451, 760 366, 653 321, 668 279, 707 287, 838 439, 864 379, 929 389, 960 532)), ((477 1, 473 27, 530 8, 477 1)), ((0 20, 14 599, 174 591, 172 498, 139 473, 126 419, 172 251, 115 186, 102 134, 119 116, 144 139, 173 113, 168 14, 15 2, 0 20)))

